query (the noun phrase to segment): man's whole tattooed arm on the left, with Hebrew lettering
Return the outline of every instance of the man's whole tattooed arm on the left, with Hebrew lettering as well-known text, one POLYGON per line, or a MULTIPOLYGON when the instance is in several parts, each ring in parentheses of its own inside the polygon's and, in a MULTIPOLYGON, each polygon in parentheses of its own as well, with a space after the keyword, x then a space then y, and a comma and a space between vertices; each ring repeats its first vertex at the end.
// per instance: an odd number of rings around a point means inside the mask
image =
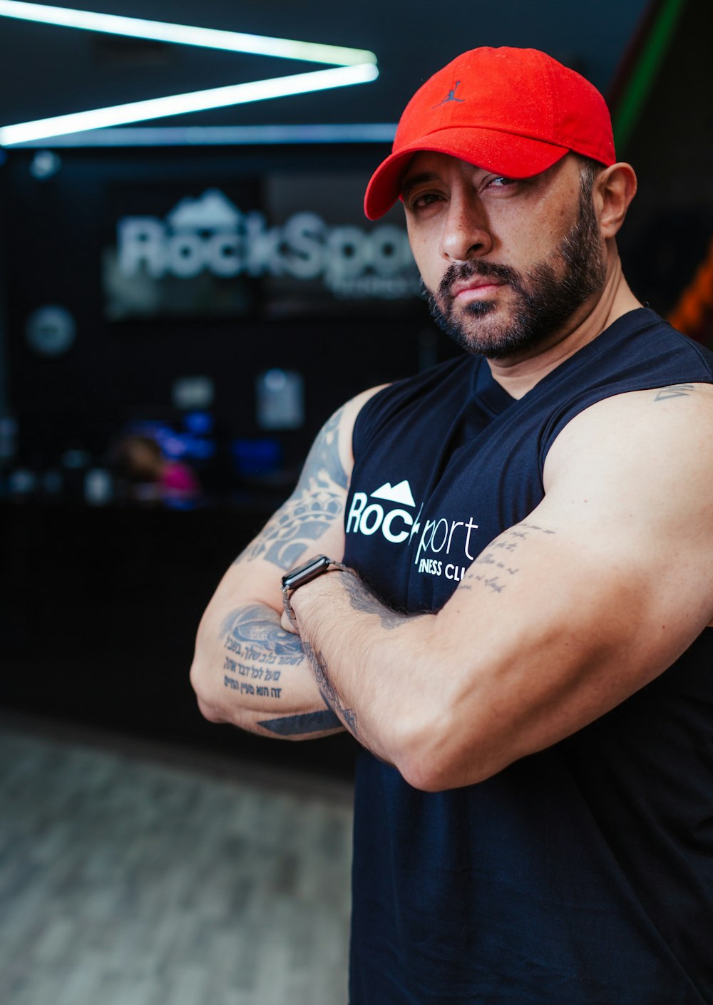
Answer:
POLYGON ((348 402, 319 433, 295 491, 237 557, 201 619, 191 682, 206 719, 282 739, 343 729, 300 639, 280 626, 285 572, 311 555, 344 553, 354 418, 377 389, 348 402))

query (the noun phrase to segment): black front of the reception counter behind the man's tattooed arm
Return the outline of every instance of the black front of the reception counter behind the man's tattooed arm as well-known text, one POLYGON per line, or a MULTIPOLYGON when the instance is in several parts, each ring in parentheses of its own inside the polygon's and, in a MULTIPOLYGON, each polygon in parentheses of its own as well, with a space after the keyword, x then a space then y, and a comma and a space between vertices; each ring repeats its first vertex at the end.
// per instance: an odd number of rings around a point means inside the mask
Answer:
POLYGON ((0 502, 0 708, 255 764, 348 776, 351 738, 293 744, 205 722, 200 615, 263 512, 0 502))

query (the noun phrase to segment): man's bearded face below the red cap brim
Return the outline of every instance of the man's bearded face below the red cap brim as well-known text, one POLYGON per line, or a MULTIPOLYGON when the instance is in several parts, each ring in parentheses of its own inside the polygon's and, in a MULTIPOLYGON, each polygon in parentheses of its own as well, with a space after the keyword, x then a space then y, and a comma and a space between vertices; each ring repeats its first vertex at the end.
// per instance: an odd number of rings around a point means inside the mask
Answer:
POLYGON ((512 181, 424 152, 409 164, 403 199, 431 313, 469 352, 531 355, 566 334, 604 284, 604 242, 574 157, 512 181))

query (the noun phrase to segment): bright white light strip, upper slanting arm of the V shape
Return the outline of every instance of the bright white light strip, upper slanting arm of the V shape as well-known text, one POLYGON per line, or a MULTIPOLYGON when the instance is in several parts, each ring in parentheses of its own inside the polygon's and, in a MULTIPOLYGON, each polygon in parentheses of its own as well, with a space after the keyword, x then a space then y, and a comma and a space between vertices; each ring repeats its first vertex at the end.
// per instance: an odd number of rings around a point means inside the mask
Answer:
POLYGON ((229 52, 249 52, 254 55, 279 56, 283 59, 305 59, 308 62, 332 63, 338 66, 376 62, 374 53, 367 49, 299 42, 264 35, 246 35, 239 31, 219 31, 215 28, 197 28, 187 24, 147 21, 143 18, 123 17, 118 14, 97 14, 88 10, 70 10, 66 7, 22 3, 19 0, 0 0, 0 17, 63 25, 66 28, 80 28, 84 31, 102 31, 111 35, 176 42, 179 45, 224 49, 229 52))

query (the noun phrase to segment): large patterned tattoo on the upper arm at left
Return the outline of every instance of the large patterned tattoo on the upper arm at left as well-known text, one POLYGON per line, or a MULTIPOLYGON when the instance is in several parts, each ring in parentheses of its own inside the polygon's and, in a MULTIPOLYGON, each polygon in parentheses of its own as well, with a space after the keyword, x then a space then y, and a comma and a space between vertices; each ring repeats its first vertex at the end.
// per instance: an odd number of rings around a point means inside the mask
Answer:
POLYGON ((287 571, 341 520, 344 493, 335 489, 347 486, 338 450, 342 412, 332 416, 315 440, 293 494, 236 562, 259 558, 287 571))

